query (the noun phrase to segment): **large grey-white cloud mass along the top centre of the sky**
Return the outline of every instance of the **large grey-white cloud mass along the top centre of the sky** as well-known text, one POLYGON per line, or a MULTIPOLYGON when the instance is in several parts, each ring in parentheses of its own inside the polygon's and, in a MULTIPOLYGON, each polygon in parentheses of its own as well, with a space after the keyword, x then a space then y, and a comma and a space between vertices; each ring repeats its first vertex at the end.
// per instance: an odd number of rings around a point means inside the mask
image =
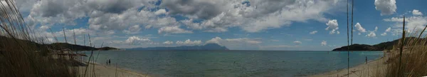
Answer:
MULTIPOLYGON (((190 19, 205 20, 188 25, 190 28, 221 32, 227 31, 228 27, 237 26, 244 31, 258 32, 289 26, 295 21, 310 19, 326 21, 323 14, 333 9, 333 6, 339 6, 337 2, 337 0, 250 1, 249 5, 237 0, 168 0, 164 1, 161 6, 168 8, 170 14, 182 14, 190 19)), ((194 23, 193 21, 187 22, 194 23)), ((187 22, 186 24, 188 24, 187 22)))

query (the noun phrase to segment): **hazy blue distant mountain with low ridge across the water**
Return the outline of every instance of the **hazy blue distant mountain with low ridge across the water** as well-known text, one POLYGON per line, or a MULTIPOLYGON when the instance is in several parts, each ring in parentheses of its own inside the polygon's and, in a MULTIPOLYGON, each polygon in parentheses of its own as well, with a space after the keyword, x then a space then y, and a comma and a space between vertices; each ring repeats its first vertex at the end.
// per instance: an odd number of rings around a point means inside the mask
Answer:
POLYGON ((216 43, 206 43, 204 46, 176 46, 176 47, 149 47, 149 48, 127 48, 126 50, 228 50, 225 46, 219 46, 216 43))

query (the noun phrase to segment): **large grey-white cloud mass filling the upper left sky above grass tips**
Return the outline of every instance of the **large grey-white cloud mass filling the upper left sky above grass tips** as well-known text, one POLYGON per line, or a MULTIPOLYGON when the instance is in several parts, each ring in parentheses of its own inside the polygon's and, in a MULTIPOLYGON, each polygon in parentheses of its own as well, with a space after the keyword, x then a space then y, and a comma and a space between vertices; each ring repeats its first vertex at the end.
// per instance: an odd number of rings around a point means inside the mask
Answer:
POLYGON ((155 1, 157 0, 18 0, 17 5, 20 10, 29 12, 24 18, 29 26, 75 25, 76 19, 88 17, 89 29, 97 32, 119 30, 132 34, 133 31, 129 29, 136 25, 144 28, 178 25, 170 16, 156 16, 165 14, 165 9, 150 11, 157 7, 155 1))

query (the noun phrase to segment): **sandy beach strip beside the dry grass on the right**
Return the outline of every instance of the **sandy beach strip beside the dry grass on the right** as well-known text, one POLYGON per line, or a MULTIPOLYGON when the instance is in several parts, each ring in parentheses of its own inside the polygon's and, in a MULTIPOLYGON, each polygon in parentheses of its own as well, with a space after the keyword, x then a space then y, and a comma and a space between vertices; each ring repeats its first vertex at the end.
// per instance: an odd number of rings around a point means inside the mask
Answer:
POLYGON ((378 58, 373 61, 369 61, 368 63, 360 64, 358 66, 354 66, 349 68, 349 74, 347 74, 347 68, 330 71, 327 73, 320 73, 310 77, 367 77, 373 76, 374 73, 378 70, 378 68, 385 68, 386 64, 384 63, 385 58, 378 58))

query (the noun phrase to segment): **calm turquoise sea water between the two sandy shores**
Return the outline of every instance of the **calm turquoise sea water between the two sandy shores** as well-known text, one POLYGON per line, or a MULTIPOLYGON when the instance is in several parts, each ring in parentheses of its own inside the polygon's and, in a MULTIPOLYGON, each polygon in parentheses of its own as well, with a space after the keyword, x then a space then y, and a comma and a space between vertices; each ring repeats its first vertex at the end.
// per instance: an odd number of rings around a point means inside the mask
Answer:
MULTIPOLYGON (((354 51, 349 66, 382 55, 354 51)), ((346 51, 100 51, 97 63, 108 58, 121 68, 169 77, 308 76, 347 68, 346 51)))

